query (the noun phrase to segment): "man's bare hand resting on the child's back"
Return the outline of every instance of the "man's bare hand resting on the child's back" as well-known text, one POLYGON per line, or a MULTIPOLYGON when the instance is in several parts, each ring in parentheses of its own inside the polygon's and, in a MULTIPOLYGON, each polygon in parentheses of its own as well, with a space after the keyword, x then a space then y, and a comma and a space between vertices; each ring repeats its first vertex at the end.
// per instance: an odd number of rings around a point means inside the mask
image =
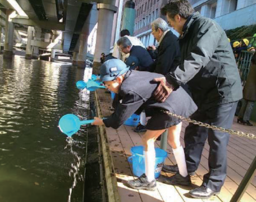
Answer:
POLYGON ((164 102, 173 91, 173 87, 166 81, 165 77, 154 78, 153 81, 159 82, 159 85, 154 92, 155 99, 158 102, 164 102))

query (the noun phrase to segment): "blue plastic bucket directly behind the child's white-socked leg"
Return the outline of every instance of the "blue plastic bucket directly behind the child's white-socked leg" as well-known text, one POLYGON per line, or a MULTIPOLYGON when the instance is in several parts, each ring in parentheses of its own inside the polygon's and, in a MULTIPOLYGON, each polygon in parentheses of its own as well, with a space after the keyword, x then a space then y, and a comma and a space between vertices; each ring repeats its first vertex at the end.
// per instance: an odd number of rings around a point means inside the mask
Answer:
MULTIPOLYGON (((164 165, 164 160, 167 157, 167 152, 160 148, 156 149, 156 164, 155 164, 155 178, 160 176, 164 165)), ((145 173, 145 156, 143 154, 143 146, 135 146, 131 148, 131 156, 128 161, 132 163, 133 174, 140 177, 145 173)))

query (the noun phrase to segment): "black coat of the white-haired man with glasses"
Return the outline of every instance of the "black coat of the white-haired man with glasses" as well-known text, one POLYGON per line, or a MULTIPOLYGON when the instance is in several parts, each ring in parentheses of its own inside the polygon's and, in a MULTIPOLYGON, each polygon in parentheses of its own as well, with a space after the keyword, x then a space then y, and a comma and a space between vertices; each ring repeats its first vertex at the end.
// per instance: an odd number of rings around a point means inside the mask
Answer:
POLYGON ((180 61, 180 46, 178 38, 171 32, 166 32, 163 40, 157 48, 157 58, 150 65, 150 72, 166 75, 174 71, 180 61))

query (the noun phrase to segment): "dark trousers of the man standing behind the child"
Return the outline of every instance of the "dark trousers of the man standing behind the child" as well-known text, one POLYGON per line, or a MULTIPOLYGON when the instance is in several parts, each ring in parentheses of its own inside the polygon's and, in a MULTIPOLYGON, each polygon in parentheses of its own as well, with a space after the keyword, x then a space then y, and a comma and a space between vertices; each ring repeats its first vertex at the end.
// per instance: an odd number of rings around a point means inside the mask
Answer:
MULTIPOLYGON (((237 102, 216 105, 211 109, 197 110, 190 118, 210 125, 230 129, 232 127, 237 102)), ((214 131, 203 126, 189 124, 185 130, 185 158, 187 170, 195 171, 200 163, 206 139, 209 150, 209 173, 204 175, 203 185, 219 192, 227 176, 227 144, 229 134, 214 131)))

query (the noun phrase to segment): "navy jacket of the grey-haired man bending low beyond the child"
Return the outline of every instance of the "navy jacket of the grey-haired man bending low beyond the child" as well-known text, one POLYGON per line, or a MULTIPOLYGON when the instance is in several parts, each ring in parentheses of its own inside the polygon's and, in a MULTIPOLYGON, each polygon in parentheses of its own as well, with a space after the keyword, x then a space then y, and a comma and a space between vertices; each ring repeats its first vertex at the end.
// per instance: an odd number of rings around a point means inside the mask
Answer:
POLYGON ((145 48, 141 46, 132 46, 130 56, 135 56, 139 61, 139 71, 148 71, 149 66, 153 63, 153 59, 145 48))

